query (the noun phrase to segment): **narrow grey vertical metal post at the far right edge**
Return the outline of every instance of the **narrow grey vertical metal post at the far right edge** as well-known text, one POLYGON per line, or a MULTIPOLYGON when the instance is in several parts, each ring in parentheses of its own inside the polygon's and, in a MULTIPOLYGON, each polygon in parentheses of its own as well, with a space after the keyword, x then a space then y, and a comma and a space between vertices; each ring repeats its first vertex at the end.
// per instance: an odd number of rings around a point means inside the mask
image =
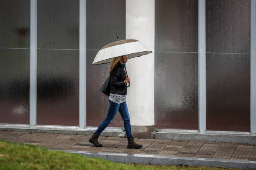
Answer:
POLYGON ((256 0, 251 0, 251 133, 256 135, 256 0))

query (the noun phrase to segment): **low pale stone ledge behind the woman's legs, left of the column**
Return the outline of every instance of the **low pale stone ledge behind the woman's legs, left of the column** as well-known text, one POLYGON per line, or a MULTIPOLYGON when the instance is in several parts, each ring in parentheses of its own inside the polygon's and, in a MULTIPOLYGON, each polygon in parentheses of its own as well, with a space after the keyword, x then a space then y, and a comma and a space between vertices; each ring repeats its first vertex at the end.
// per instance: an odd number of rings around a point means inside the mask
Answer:
MULTIPOLYGON (((74 126, 47 126, 47 125, 0 125, 3 131, 54 133, 64 135, 92 135, 97 128, 80 128, 74 126)), ((124 137, 125 132, 121 128, 106 128, 101 136, 124 137)))

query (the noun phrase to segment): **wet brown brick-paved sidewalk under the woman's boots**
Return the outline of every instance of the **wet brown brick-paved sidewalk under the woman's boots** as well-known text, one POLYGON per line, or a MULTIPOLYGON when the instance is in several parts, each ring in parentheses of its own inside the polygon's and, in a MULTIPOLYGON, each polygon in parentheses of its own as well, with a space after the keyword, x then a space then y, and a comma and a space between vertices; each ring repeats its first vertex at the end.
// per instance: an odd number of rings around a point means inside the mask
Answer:
POLYGON ((136 139, 143 148, 127 149, 127 138, 100 136, 103 147, 94 147, 88 142, 89 138, 84 135, 0 131, 0 139, 48 149, 256 161, 256 146, 251 144, 136 139))

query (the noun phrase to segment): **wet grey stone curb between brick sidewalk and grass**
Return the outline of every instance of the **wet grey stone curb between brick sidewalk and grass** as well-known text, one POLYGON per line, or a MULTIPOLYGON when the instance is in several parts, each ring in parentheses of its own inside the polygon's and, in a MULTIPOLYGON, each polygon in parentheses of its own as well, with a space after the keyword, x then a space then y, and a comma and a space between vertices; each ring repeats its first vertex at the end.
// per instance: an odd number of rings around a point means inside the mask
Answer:
POLYGON ((175 156, 158 156, 158 155, 140 155, 140 154, 124 154, 124 153, 101 153, 101 152, 85 152, 62 150, 68 153, 76 153, 93 158, 102 158, 116 163, 139 163, 148 165, 182 165, 182 166, 205 166, 205 167, 225 167, 239 169, 255 169, 256 161, 242 160, 218 160, 209 158, 191 158, 191 157, 175 157, 175 156))

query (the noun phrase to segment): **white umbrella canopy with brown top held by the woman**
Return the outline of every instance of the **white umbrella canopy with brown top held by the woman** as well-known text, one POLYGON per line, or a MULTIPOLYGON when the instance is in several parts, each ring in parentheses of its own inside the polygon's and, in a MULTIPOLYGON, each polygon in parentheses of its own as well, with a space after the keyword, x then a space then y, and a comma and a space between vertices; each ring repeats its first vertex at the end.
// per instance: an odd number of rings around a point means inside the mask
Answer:
POLYGON ((112 62, 114 57, 122 55, 126 55, 128 59, 131 59, 151 52, 152 51, 148 50, 148 47, 138 40, 118 40, 102 47, 92 62, 92 65, 112 62))

